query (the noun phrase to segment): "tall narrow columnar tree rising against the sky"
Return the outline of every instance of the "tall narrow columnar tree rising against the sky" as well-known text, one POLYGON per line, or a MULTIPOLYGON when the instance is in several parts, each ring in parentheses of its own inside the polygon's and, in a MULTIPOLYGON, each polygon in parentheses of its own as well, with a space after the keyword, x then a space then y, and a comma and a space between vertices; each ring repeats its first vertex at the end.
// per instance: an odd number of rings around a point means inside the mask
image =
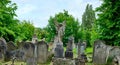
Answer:
POLYGON ((91 30, 93 24, 95 22, 95 12, 92 9, 92 5, 87 4, 85 12, 82 15, 82 24, 81 24, 81 31, 82 31, 82 40, 87 42, 88 46, 91 46, 91 30))

